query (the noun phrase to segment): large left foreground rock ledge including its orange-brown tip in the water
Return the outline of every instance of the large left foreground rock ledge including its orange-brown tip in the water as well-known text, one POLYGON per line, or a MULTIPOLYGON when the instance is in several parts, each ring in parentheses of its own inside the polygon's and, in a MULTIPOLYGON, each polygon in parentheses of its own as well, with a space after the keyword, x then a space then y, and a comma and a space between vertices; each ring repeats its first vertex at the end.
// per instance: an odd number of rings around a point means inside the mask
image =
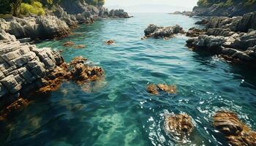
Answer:
MULTIPOLYGON (((16 107, 17 103, 24 103, 20 102, 20 97, 29 98, 35 93, 55 91, 64 80, 81 84, 104 76, 103 69, 85 64, 86 61, 86 58, 77 57, 67 64, 61 55, 51 48, 38 49, 35 45, 20 43, 15 36, 1 31, 1 109, 13 102, 16 107)), ((12 106, 10 108, 12 109, 12 106)))

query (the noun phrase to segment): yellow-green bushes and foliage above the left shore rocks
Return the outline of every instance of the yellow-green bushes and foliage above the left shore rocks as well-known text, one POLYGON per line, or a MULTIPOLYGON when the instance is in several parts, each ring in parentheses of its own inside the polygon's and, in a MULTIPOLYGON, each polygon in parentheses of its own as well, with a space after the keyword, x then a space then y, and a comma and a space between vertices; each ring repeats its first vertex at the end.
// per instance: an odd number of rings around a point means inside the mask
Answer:
MULTIPOLYGON (((0 14, 18 15, 44 15, 45 9, 54 9, 57 4, 65 0, 0 0, 0 14)), ((67 0, 66 0, 67 1, 67 0)), ((81 1, 81 0, 69 0, 81 1)), ((102 6, 105 0, 85 0, 87 4, 102 6)))

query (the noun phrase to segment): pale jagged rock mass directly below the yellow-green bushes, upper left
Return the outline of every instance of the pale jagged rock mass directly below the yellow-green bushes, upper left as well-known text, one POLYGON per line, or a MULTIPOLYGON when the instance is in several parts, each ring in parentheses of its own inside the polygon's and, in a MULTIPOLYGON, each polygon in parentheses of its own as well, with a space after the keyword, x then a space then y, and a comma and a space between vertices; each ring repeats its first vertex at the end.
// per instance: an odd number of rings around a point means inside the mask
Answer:
POLYGON ((54 37, 66 37, 71 34, 67 23, 56 16, 37 16, 26 18, 0 19, 0 29, 15 35, 16 38, 41 38, 52 39, 54 37))

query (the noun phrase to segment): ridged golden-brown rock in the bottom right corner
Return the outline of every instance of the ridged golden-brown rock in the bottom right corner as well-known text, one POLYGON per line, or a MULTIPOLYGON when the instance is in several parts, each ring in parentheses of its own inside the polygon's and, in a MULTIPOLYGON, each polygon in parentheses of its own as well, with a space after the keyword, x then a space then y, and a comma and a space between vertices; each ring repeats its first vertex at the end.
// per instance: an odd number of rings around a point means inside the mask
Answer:
POLYGON ((214 127, 224 134, 230 145, 256 145, 256 132, 242 123, 233 112, 217 112, 214 115, 214 127))

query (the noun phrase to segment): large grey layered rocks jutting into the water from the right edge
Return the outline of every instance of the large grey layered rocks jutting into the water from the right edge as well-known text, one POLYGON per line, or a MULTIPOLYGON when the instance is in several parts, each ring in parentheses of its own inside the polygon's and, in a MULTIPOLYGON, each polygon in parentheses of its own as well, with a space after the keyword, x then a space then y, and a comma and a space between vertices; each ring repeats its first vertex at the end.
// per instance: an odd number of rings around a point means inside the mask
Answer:
MULTIPOLYGON (((206 32, 199 37, 191 35, 187 46, 222 55, 227 60, 253 64, 256 61, 256 12, 235 18, 211 18, 206 32)), ((193 34, 193 32, 192 32, 193 34)))

